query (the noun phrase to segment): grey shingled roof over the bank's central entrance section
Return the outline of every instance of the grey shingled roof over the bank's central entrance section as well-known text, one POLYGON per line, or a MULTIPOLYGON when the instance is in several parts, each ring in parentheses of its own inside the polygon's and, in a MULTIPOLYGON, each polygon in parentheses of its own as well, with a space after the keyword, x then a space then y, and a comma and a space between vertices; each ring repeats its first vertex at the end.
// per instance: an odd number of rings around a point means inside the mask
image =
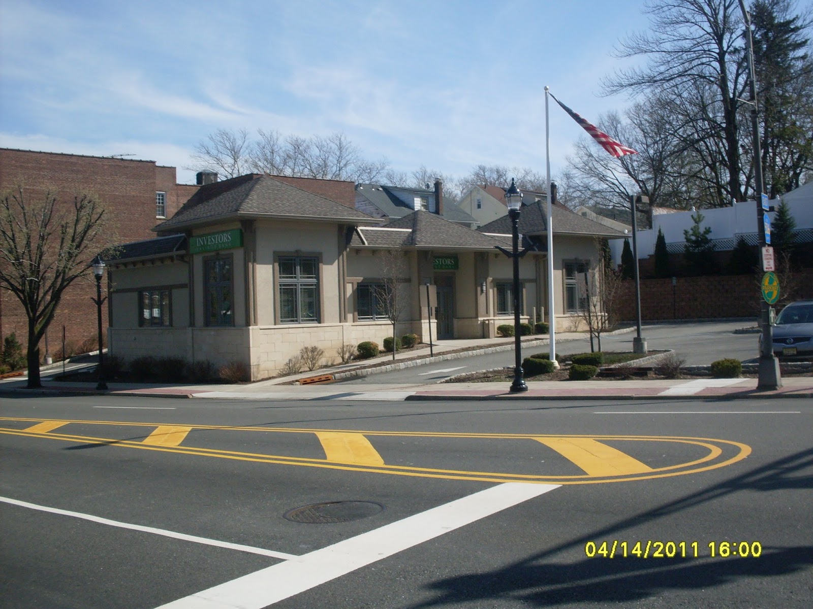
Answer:
POLYGON ((451 248, 492 250, 510 240, 483 235, 423 209, 382 227, 359 227, 350 240, 354 248, 451 248))

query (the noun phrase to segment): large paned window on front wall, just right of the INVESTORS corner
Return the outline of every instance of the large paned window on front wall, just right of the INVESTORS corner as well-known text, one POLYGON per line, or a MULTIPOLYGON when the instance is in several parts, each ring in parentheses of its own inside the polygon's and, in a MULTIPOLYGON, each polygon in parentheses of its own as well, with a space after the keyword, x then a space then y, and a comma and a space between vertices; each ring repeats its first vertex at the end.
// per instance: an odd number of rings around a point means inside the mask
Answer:
POLYGON ((280 257, 280 323, 319 322, 319 258, 280 257))

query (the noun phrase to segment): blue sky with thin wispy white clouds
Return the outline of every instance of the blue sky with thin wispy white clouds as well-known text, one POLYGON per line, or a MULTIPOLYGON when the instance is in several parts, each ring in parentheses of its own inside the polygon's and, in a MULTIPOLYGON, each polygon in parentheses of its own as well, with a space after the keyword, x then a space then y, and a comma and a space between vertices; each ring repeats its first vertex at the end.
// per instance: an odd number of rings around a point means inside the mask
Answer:
MULTIPOLYGON (((219 128, 344 132, 398 171, 545 171, 545 85, 592 122, 641 0, 0 3, 0 146, 178 167, 219 128)), ((585 133, 550 100, 556 175, 585 133)))

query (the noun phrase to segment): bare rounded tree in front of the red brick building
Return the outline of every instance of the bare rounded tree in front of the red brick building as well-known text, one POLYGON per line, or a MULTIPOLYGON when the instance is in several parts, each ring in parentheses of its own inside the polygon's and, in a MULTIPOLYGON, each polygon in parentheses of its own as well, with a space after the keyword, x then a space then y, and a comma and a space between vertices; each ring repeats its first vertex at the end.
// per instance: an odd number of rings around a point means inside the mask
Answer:
POLYGON ((20 300, 28 317, 28 388, 41 387, 39 343, 63 292, 88 277, 90 260, 103 248, 104 214, 90 195, 68 204, 56 192, 34 198, 18 187, 0 198, 0 288, 20 300))

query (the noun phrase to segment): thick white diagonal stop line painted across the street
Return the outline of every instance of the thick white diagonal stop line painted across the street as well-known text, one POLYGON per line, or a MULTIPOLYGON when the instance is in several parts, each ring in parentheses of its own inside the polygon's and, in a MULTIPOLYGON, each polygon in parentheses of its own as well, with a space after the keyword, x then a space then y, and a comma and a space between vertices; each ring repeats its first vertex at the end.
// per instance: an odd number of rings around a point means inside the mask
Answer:
POLYGON ((468 525, 559 485, 506 482, 289 561, 215 585, 158 609, 260 609, 468 525))

